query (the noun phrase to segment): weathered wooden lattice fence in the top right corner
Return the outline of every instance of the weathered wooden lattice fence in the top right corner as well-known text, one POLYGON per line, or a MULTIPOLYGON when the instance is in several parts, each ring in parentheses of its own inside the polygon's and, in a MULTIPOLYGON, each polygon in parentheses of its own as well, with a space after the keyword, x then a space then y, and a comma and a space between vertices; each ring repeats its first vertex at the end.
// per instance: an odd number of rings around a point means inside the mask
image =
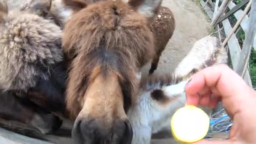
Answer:
POLYGON ((213 26, 217 32, 216 36, 221 40, 222 45, 229 49, 233 69, 241 75, 245 82, 251 87, 252 83, 248 70, 248 60, 251 48, 253 47, 254 50, 256 50, 256 37, 254 36, 256 26, 255 1, 256 0, 242 0, 236 5, 232 0, 216 0, 215 3, 213 3, 212 0, 200 0, 204 11, 211 19, 211 26, 213 26), (241 8, 244 5, 246 5, 246 7, 242 10, 241 8), (227 11, 227 9, 229 9, 229 11, 227 11), (232 14, 235 16, 235 19, 237 19, 233 27, 228 19, 232 14), (240 28, 245 32, 245 40, 242 48, 236 37, 236 32, 238 32, 240 28), (221 33, 224 33, 224 35, 221 35, 221 33))

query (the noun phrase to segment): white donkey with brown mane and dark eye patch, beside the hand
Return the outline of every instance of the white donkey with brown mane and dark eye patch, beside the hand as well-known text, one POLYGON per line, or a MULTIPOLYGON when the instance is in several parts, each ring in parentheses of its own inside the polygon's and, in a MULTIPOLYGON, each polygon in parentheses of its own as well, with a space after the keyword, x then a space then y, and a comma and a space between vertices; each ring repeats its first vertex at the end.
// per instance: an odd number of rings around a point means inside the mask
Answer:
POLYGON ((185 86, 191 76, 217 64, 227 64, 227 52, 216 37, 207 36, 195 42, 173 73, 142 79, 138 100, 128 111, 132 144, 150 144, 152 133, 169 129, 172 115, 185 105, 185 86))

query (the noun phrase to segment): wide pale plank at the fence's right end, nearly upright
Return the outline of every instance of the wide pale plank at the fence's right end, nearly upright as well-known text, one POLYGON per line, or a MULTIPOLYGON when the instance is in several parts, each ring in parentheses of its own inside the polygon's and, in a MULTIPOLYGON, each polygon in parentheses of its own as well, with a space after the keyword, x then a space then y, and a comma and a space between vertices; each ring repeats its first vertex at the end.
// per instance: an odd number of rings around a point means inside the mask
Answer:
POLYGON ((251 6, 251 16, 249 17, 250 21, 248 24, 248 31, 245 33, 245 41, 243 44, 243 49, 240 54, 239 63, 235 69, 238 75, 242 77, 245 75, 247 65, 251 55, 251 48, 253 44, 253 37, 256 32, 256 0, 252 0, 251 6))

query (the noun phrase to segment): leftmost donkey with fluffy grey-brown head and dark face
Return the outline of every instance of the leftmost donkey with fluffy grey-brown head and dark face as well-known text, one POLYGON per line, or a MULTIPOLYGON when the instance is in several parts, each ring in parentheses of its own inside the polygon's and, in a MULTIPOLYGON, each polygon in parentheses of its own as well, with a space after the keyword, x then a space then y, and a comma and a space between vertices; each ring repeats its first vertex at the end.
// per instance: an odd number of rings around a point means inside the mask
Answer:
POLYGON ((0 3, 0 117, 57 130, 62 121, 50 111, 65 113, 66 71, 61 29, 35 11, 0 3))

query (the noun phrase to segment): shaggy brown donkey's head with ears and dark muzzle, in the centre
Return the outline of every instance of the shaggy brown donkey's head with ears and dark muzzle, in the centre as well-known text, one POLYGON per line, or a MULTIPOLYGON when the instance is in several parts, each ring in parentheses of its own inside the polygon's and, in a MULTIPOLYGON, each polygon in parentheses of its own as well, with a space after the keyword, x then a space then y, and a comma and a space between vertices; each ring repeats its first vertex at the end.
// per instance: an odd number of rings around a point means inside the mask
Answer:
POLYGON ((76 118, 72 137, 80 144, 130 144, 126 112, 138 91, 136 74, 155 54, 149 22, 162 0, 63 2, 76 11, 62 36, 73 58, 67 84, 67 108, 76 118))

